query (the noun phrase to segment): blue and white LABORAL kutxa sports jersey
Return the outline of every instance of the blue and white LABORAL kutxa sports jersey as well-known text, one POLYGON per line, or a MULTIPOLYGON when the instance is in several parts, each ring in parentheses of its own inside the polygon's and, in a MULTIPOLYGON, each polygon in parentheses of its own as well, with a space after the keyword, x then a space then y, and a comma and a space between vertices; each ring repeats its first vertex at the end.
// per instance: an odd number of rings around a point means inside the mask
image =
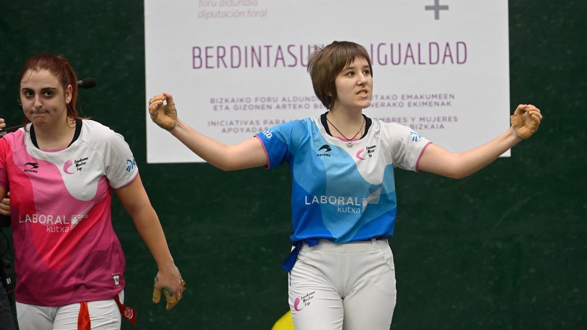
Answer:
POLYGON ((397 212, 393 169, 417 171, 430 142, 407 126, 369 122, 365 136, 352 147, 326 133, 321 116, 255 135, 265 147, 269 168, 289 164, 292 243, 392 237, 397 212))

